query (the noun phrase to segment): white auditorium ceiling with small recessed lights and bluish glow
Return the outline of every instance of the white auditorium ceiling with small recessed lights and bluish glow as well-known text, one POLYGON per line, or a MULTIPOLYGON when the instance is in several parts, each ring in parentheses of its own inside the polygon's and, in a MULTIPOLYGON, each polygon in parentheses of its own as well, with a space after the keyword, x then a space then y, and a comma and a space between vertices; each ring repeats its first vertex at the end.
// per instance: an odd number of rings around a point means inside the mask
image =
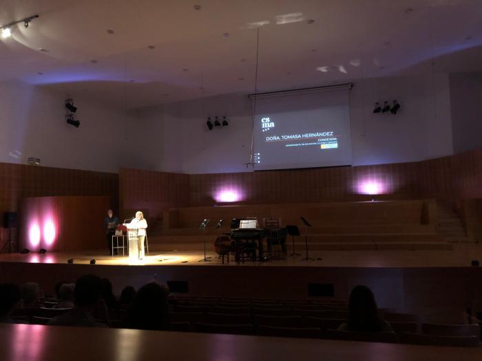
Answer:
POLYGON ((252 93, 258 30, 258 91, 482 70, 481 0, 0 0, 0 25, 32 14, 0 80, 127 108, 252 93))

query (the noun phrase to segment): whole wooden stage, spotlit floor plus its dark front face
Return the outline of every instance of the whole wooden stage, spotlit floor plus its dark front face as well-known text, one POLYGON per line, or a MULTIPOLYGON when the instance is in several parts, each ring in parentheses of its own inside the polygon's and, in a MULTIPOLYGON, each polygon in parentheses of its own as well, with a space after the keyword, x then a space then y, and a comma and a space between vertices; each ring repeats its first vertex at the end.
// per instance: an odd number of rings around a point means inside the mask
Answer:
POLYGON ((422 314, 458 312, 482 299, 482 268, 470 265, 472 259, 482 260, 482 245, 474 243, 454 244, 453 250, 317 251, 310 256, 321 260, 308 263, 297 256, 222 265, 214 252, 208 252, 211 262, 198 262, 202 256, 200 251, 159 251, 129 263, 100 250, 0 254, 0 282, 36 281, 45 294, 53 294, 59 281, 93 273, 109 278, 116 294, 126 285, 158 281, 180 287, 173 294, 337 300, 348 300, 350 289, 361 284, 373 289, 379 307, 422 314))

